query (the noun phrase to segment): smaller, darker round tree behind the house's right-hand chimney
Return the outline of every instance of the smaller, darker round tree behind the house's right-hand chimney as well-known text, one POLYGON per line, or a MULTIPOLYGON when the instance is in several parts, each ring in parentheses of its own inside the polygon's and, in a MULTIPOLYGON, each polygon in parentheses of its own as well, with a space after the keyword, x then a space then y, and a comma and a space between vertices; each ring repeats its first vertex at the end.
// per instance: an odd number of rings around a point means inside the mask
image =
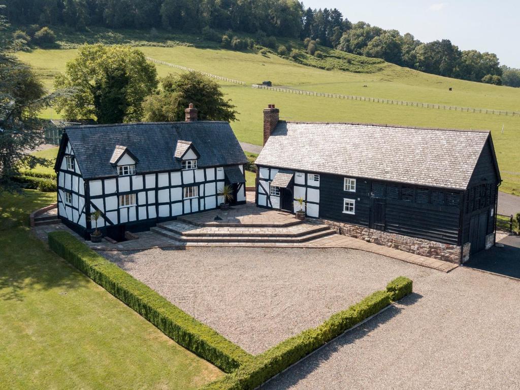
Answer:
POLYGON ((161 80, 159 94, 145 102, 145 120, 149 122, 184 121, 184 110, 193 103, 199 120, 236 121, 235 106, 224 99, 217 83, 199 72, 170 74, 161 80))

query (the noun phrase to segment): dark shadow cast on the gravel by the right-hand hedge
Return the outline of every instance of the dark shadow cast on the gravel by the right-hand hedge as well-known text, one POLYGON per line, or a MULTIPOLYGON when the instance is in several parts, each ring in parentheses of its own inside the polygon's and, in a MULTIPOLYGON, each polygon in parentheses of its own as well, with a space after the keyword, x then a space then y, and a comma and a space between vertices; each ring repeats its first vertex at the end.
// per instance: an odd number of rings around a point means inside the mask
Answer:
MULTIPOLYGON (((411 293, 405 298, 402 298, 399 301, 399 306, 410 306, 418 302, 422 298, 422 295, 417 293, 411 293)), ((371 320, 363 323, 356 329, 353 329, 342 336, 337 337, 334 341, 331 341, 329 344, 324 346, 322 349, 318 350, 314 355, 305 358, 301 362, 297 363, 296 366, 291 367, 287 372, 284 372, 269 382, 264 386, 261 386, 262 389, 288 389, 292 388, 292 386, 297 385, 298 382, 305 379, 307 375, 312 373, 318 367, 322 365, 323 362, 326 362, 334 353, 340 350, 344 345, 353 344, 357 340, 362 339, 370 332, 382 326, 387 321, 391 320, 395 316, 397 316, 403 308, 398 306, 391 306, 383 313, 375 316, 371 320)))

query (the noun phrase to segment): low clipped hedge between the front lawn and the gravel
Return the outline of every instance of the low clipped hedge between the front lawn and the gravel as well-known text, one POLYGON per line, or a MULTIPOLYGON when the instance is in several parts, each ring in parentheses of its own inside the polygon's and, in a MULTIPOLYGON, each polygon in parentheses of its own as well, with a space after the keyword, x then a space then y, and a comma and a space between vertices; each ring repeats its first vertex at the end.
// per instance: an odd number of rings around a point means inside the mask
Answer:
POLYGON ((178 344, 225 372, 253 356, 167 301, 65 231, 50 232, 49 246, 90 279, 153 323, 178 344))

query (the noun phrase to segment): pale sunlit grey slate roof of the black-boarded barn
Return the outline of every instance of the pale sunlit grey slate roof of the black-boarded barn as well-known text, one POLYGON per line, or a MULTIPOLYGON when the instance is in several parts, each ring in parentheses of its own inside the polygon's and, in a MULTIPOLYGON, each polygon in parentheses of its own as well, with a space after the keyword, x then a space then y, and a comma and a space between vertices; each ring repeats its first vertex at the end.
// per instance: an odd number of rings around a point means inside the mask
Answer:
POLYGON ((466 189, 489 132, 280 121, 256 164, 466 189))

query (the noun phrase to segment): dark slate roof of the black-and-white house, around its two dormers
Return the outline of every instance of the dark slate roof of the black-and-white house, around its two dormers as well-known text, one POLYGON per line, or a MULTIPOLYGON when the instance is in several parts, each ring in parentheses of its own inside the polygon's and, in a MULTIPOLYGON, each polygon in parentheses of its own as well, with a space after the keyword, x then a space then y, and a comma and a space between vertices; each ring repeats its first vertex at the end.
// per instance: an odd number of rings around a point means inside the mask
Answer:
POLYGON ((192 142, 201 168, 248 162, 227 122, 122 123, 67 127, 66 132, 85 179, 117 174, 110 160, 118 145, 139 160, 137 173, 180 170, 174 157, 178 140, 192 142))

